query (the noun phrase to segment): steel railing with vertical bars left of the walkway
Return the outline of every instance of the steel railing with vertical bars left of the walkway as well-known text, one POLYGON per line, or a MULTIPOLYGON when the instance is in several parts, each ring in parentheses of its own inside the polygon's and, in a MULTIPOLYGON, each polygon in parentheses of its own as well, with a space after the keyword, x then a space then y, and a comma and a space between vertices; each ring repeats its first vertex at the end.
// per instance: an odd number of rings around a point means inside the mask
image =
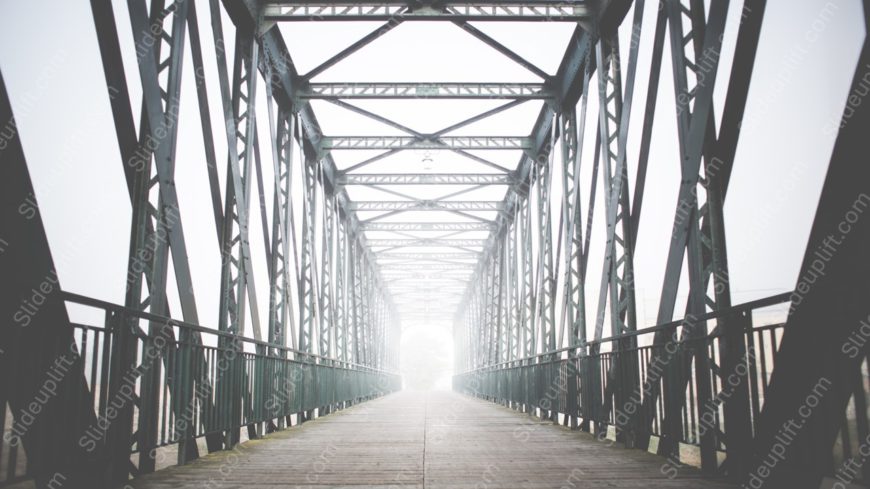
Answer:
MULTIPOLYGON (((288 426, 292 415, 328 414, 401 388, 392 372, 59 293, 68 306, 102 316, 70 323, 70 360, 56 374, 84 379, 87 388, 64 393, 64 404, 68 419, 86 420, 79 446, 107 470, 126 471, 131 457, 139 472, 154 470, 154 451, 169 445, 185 463, 197 438, 229 448, 241 428, 253 438, 288 426)), ((27 426, 6 425, 0 486, 37 476, 21 451, 27 426)))

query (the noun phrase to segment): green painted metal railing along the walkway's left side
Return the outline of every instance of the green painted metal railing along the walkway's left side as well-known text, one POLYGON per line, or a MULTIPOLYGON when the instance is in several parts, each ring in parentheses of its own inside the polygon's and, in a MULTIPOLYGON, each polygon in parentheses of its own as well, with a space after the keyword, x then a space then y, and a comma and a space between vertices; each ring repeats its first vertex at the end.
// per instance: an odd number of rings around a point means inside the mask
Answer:
MULTIPOLYGON (((402 386, 398 374, 384 370, 75 294, 64 292, 62 297, 68 304, 103 310, 109 318, 99 325, 71 325, 75 337, 99 338, 104 344, 118 345, 111 352, 87 358, 92 368, 109 379, 118 379, 110 384, 106 398, 97 401, 98 416, 113 418, 112 401, 124 399, 130 383, 140 378, 157 379, 149 394, 155 406, 152 423, 157 428, 149 450, 243 427, 254 427, 249 436, 259 436, 274 430, 269 425, 278 426, 279 420, 286 421, 291 415, 314 411, 324 415, 402 386), (160 324, 160 333, 148 334, 137 325, 139 321, 160 324), (278 354, 269 354, 269 350, 278 354), (149 352, 153 352, 151 356, 149 352), (200 358, 204 361, 197 360, 200 358), (196 383, 195 379, 206 382, 196 383), (203 385, 224 387, 212 393, 203 385)), ((85 434, 86 441, 95 447, 133 454, 142 451, 141 445, 134 445, 131 451, 111 445, 117 440, 104 436, 97 426, 85 434)), ((184 456, 180 462, 188 460, 184 456)), ((120 469, 126 470, 126 466, 120 469)))

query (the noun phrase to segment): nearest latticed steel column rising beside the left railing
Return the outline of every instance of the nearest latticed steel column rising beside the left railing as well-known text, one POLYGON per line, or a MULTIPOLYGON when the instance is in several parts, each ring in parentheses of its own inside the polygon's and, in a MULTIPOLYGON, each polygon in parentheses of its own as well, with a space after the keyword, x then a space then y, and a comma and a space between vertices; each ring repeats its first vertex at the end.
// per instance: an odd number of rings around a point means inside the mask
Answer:
MULTIPOLYGON (((133 283, 129 284, 132 287, 128 288, 126 303, 128 307, 137 310, 144 309, 161 316, 169 315, 166 283, 169 241, 172 240, 177 244, 172 253, 174 262, 176 266, 182 264, 181 272, 177 272, 177 276, 184 277, 186 281, 184 284, 179 283, 179 291, 183 295, 182 303, 187 306, 184 311, 185 318, 191 318, 193 314, 194 317, 190 320, 196 321, 192 283, 189 281, 181 216, 174 186, 177 118, 188 3, 174 2, 164 8, 164 2, 153 2, 150 18, 142 2, 131 0, 128 8, 134 38, 137 46, 141 46, 137 50, 137 56, 144 99, 139 143, 143 154, 136 163, 143 165, 149 178, 146 180, 144 172, 140 173, 135 187, 134 229, 131 233, 128 274, 133 283), (165 59, 161 57, 164 42, 169 48, 165 59), (166 76, 162 78, 161 72, 164 71, 166 76), (165 85, 161 85, 162 80, 165 80, 165 85), (156 179, 150 178, 152 156, 157 170, 156 179), (160 185, 155 185, 156 182, 160 185), (148 234, 152 229, 153 232, 148 234), (147 265, 143 266, 143 261, 147 265), (145 268, 148 272, 145 272, 145 268), (143 301, 141 294, 146 273, 150 276, 149 297, 143 301)), ((138 328, 138 324, 135 327, 138 328)), ((140 473, 152 472, 155 468, 153 448, 157 444, 159 396, 163 390, 160 363, 167 353, 166 348, 172 347, 158 347, 153 338, 163 336, 164 329, 165 324, 150 321, 148 334, 151 339, 144 343, 143 359, 146 360, 142 365, 140 379, 136 439, 140 473)), ((185 451, 191 449, 188 440, 183 445, 185 451)))

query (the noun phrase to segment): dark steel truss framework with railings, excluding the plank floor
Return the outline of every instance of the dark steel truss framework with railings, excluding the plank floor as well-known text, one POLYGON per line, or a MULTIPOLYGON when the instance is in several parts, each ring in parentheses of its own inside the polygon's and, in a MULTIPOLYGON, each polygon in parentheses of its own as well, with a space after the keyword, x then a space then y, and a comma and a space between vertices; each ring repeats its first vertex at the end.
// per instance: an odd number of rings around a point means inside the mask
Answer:
MULTIPOLYGON (((34 372, 4 384, 0 400, 11 406, 14 422, 20 423, 15 413, 39 390, 40 372, 64 352, 71 352, 74 375, 63 380, 51 414, 16 438, 27 470, 17 473, 18 452, 7 454, 12 468, 0 485, 27 477, 46 484, 61 473, 88 487, 112 487, 155 470, 159 449, 167 445, 177 444, 177 461, 186 463, 199 454, 197 438, 207 440, 209 451, 231 449, 243 427, 253 438, 287 426, 291 416, 302 421, 315 411, 328 414, 395 390, 402 325, 426 323, 445 311, 455 311, 455 389, 601 436, 612 432, 627 447, 649 449, 656 440, 669 460, 679 460, 681 446, 696 447, 708 474, 746 480, 757 473, 777 443, 777 427, 802 395, 818 388, 820 376, 830 379, 834 394, 821 401, 824 410, 806 418, 812 429, 789 449, 791 458, 765 476, 770 487, 832 475, 833 447, 870 435, 865 387, 856 374, 866 351, 857 360, 804 361, 815 342, 836 349, 852 323, 867 315, 870 274, 861 253, 870 244, 866 219, 850 222, 849 244, 832 258, 825 281, 801 293, 808 300, 786 294, 732 304, 723 205, 764 0, 738 6, 730 72, 720 69, 719 59, 732 18, 729 5, 738 3, 729 1, 710 2, 707 11, 700 0, 662 0, 653 25, 644 12, 655 2, 644 0, 129 0, 129 19, 120 19, 109 0, 90 3, 133 211, 126 299, 113 305, 57 291, 31 318, 34 326, 3 333, 4 344, 18 352, 4 357, 4 367, 34 372), (210 31, 202 32, 197 7, 205 6, 210 31), (224 15, 231 26, 224 25, 224 15), (125 67, 119 40, 127 20, 137 47, 135 67, 125 67), (307 73, 297 72, 279 28, 362 20, 383 25, 307 73), (396 26, 415 21, 455 25, 539 81, 316 80, 396 26), (555 73, 477 27, 517 21, 573 27, 555 73), (649 45, 640 42, 645 32, 653 32, 649 45), (651 58, 646 73, 642 51, 651 58), (185 70, 188 55, 193 73, 185 70), (216 80, 201 76, 204 59, 212 57, 216 80), (659 106, 662 69, 673 72, 675 106, 659 106), (128 78, 131 70, 135 82, 128 78), (222 258, 216 328, 204 327, 198 316, 178 197, 184 190, 174 174, 181 84, 191 77, 197 98, 185 103, 196 104, 200 115, 209 219, 222 258), (715 83, 723 82, 724 106, 714 107, 715 83), (219 107, 209 105, 206 87, 213 83, 219 107), (642 104, 635 96, 641 83, 647 86, 642 104), (355 102, 396 99, 503 102, 431 133, 355 102), (324 132, 314 101, 403 135, 324 132), (529 103, 540 104, 540 111, 528 134, 457 133, 529 103), (643 328, 634 254, 647 175, 655 171, 653 121, 674 115, 679 193, 656 325, 643 328), (223 134, 213 133, 213 118, 223 134), (632 123, 637 118, 641 123, 632 123), (639 132, 636 154, 629 151, 630 128, 639 132), (219 138, 227 148, 223 179, 219 138), (359 150, 377 154, 337 164, 338 152, 359 150), (411 151, 458 155, 472 171, 374 170, 379 161, 411 151), (518 163, 505 168, 483 156, 493 151, 515 154, 518 163), (418 186, 443 192, 424 198, 418 186), (384 198, 352 199, 360 188, 384 198), (481 189, 498 189, 503 198, 474 198, 481 189), (408 217, 424 211, 431 220, 408 217), (597 243, 596 226, 603 229, 597 243), (263 236, 267 290, 256 287, 252 233, 263 236), (590 260, 592 251, 600 256, 590 260), (600 268, 593 271, 590 264, 600 268), (684 273, 688 300, 678 311, 684 273), (170 311, 169 294, 175 293, 180 310, 170 311), (264 295, 268 308, 261 316, 264 295), (753 322, 754 311, 789 300, 793 311, 786 323, 753 322), (72 323, 69 304, 100 310, 105 321, 72 323), (842 315, 824 316, 838 307, 842 315), (834 323, 833 333, 813 333, 820 322, 834 323), (789 380, 790 372, 801 372, 800 380, 789 380), (113 407, 119 399, 120 407, 113 407), (863 411, 853 425, 847 405, 863 411), (71 410, 76 416, 65 416, 71 410)), ((861 60, 867 56, 865 44, 861 60)), ((4 86, 0 115, 14 120, 8 98, 4 86)), ((856 129, 867 122, 867 109, 856 113, 858 122, 845 126, 837 140, 802 271, 812 266, 837 216, 855 196, 870 193, 855 162, 855 155, 870 152, 856 129)), ((10 235, 18 238, 0 241, 4 275, 19 277, 4 302, 9 317, 55 273, 41 220, 23 219, 13 205, 28 198, 32 183, 20 142, 11 143, 11 163, 2 170, 4 195, 11 196, 3 207, 4 227, 9 222, 10 235)), ((847 456, 842 449, 840 457, 847 456)))

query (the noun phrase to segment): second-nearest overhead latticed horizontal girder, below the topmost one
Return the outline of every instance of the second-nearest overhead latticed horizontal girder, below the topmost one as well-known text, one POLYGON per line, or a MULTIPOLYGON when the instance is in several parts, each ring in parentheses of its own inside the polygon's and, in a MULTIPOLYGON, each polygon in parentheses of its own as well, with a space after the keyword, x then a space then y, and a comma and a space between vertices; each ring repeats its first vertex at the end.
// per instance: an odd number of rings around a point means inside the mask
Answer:
POLYGON ((308 99, 513 99, 543 100, 551 93, 541 83, 312 83, 300 94, 308 99))

